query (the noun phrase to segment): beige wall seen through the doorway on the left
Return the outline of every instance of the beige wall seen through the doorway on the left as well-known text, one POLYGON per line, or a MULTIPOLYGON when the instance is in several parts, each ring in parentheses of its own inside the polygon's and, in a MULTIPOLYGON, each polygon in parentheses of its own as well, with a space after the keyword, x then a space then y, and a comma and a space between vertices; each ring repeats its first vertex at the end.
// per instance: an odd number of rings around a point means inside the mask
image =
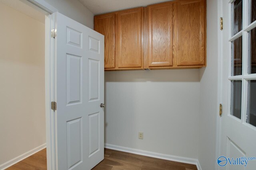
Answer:
POLYGON ((0 3, 0 164, 46 143, 44 23, 0 3))

